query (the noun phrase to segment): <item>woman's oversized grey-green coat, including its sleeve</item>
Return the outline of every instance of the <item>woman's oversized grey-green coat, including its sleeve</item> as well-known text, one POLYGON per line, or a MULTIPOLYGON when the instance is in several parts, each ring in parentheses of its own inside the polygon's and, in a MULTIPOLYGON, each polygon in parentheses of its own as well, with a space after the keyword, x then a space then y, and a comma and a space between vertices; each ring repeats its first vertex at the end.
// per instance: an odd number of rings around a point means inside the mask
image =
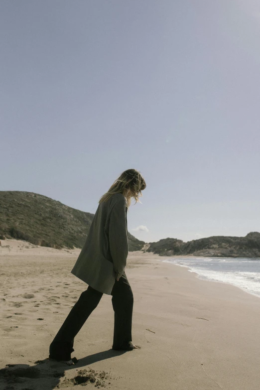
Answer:
POLYGON ((71 270, 73 275, 108 295, 127 264, 127 210, 122 193, 113 194, 107 202, 99 204, 85 244, 71 270))

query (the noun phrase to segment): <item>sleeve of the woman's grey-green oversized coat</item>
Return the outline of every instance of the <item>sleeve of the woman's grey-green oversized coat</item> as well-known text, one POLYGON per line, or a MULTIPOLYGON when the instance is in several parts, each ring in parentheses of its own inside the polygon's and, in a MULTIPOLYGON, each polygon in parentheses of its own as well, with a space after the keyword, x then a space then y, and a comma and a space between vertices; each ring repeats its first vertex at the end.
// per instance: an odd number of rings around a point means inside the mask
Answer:
POLYGON ((109 220, 109 246, 117 277, 121 277, 124 273, 128 257, 128 231, 125 210, 126 201, 120 199, 114 204, 109 220))

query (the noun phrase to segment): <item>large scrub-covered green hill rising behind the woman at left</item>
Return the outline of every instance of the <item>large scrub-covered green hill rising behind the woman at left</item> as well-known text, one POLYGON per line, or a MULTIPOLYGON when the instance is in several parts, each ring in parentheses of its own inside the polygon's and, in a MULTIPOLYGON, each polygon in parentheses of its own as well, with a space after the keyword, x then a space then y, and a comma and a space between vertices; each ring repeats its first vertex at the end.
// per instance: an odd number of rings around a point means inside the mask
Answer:
MULTIPOLYGON (((0 235, 6 238, 56 249, 82 248, 93 218, 94 214, 44 195, 0 191, 0 235)), ((139 251, 143 245, 129 233, 129 251, 139 251)))

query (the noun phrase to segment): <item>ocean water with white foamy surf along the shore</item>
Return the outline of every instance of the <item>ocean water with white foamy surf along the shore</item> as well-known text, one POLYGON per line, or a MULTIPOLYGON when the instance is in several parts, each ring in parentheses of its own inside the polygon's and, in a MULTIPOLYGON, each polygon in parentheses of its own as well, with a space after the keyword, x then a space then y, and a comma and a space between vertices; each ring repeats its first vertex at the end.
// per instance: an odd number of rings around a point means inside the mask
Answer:
POLYGON ((252 258, 172 258, 162 260, 189 268, 200 279, 233 284, 260 297, 260 259, 252 258))

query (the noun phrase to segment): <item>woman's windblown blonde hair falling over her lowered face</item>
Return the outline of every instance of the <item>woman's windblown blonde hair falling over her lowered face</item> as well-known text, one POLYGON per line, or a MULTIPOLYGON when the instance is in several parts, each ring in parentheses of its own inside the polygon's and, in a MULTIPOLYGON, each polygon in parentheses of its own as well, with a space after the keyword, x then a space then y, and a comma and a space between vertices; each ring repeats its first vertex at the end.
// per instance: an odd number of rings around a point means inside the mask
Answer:
POLYGON ((129 208, 131 197, 135 199, 135 204, 137 202, 141 203, 139 197, 142 196, 141 191, 145 188, 146 183, 140 172, 136 169, 127 169, 114 181, 109 190, 100 198, 99 203, 106 202, 113 194, 124 194, 127 190, 130 190, 130 192, 126 194, 126 203, 129 208))

